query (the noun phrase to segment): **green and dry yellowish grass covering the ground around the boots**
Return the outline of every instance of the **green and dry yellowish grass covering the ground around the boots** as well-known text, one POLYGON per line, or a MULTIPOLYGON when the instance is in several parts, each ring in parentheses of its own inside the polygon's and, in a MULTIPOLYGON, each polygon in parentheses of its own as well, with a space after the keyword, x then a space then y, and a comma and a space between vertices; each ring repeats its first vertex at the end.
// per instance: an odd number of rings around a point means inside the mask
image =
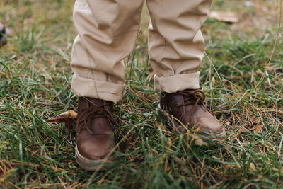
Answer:
POLYGON ((197 134, 176 134, 158 119, 145 14, 127 64, 127 92, 115 105, 121 151, 108 170, 87 172, 74 159, 74 127, 47 122, 76 110, 74 2, 0 0, 0 21, 13 29, 0 50, 0 188, 282 188, 282 38, 272 52, 282 1, 253 2, 241 8, 242 0, 214 1, 213 10, 238 11, 241 22, 208 18, 202 28, 202 89, 228 137, 214 147, 196 145, 197 134))

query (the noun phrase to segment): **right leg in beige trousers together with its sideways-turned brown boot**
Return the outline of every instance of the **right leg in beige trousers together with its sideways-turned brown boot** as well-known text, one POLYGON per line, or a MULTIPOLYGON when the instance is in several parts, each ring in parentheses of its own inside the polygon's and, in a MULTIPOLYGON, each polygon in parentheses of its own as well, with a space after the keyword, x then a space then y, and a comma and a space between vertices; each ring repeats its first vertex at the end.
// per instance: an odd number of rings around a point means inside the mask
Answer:
POLYGON ((206 132, 224 134, 219 122, 202 105, 202 92, 195 90, 200 88, 198 68, 204 56, 200 27, 211 3, 212 0, 147 0, 152 23, 149 57, 156 74, 154 89, 162 91, 159 110, 175 117, 169 122, 182 126, 180 132, 185 132, 184 126, 195 125, 206 132))

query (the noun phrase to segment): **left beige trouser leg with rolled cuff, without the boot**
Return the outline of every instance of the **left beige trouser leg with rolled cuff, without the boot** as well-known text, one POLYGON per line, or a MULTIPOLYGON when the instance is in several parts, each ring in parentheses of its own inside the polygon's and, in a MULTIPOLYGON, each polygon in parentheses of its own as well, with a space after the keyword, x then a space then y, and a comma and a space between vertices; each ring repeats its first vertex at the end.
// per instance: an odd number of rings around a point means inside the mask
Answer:
POLYGON ((71 90, 78 96, 117 102, 125 91, 125 66, 139 32, 143 0, 76 0, 79 35, 71 53, 71 90))

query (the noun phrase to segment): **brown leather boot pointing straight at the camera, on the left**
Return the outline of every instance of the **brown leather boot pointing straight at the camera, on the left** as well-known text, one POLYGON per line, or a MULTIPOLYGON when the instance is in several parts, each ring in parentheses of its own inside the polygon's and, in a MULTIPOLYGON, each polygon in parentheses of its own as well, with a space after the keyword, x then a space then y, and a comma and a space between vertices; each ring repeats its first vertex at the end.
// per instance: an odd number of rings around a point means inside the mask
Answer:
POLYGON ((94 171, 115 146, 113 103, 96 98, 79 98, 76 126, 76 161, 83 169, 94 171))

